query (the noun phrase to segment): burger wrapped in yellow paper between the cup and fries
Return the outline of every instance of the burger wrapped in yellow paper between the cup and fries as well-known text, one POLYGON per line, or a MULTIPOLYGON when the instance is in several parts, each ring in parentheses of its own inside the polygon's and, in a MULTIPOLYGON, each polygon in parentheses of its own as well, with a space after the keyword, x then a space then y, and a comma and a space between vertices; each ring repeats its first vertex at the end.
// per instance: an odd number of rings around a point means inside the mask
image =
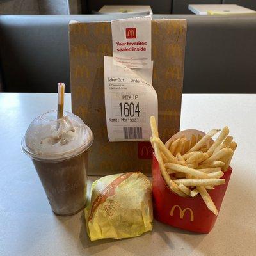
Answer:
POLYGON ((109 175, 92 184, 84 209, 91 241, 128 238, 152 230, 152 185, 141 172, 109 175))

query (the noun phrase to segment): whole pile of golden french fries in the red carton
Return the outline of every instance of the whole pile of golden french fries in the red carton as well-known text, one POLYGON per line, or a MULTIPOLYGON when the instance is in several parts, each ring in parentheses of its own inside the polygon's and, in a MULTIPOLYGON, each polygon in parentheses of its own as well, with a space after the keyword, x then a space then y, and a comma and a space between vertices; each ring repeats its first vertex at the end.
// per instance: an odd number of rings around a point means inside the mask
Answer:
POLYGON ((193 198, 200 195, 208 209, 217 215, 218 210, 207 189, 212 190, 214 186, 225 184, 225 179, 221 177, 228 170, 237 147, 233 137, 228 136, 228 127, 224 127, 222 131, 212 129, 204 136, 192 135, 190 140, 182 136, 173 140, 167 148, 159 138, 154 116, 150 117, 150 126, 150 141, 168 187, 182 197, 193 198), (212 143, 212 136, 218 132, 220 134, 212 143))

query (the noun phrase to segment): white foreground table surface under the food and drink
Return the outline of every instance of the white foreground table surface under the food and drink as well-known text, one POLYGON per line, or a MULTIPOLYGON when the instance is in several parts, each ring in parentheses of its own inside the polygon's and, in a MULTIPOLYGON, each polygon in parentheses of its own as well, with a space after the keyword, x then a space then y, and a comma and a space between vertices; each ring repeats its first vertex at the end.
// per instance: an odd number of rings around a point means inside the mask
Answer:
MULTIPOLYGON (((65 97, 70 110, 70 95, 65 97)), ((154 221, 132 239, 90 242, 83 211, 51 212, 20 140, 33 118, 56 107, 56 94, 0 93, 0 255, 256 255, 256 95, 183 95, 181 129, 230 127, 238 143, 234 172, 216 225, 193 234, 154 221)), ((90 184, 97 177, 90 177, 90 184)))

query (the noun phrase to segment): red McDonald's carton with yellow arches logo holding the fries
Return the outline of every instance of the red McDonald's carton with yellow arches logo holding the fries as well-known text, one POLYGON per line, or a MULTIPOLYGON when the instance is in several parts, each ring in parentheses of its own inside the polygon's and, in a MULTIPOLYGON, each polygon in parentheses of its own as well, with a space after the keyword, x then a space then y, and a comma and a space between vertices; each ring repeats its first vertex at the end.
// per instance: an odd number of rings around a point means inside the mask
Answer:
MULTIPOLYGON (((189 131, 195 133, 195 130, 189 131)), ((173 141, 176 138, 179 138, 180 135, 184 135, 184 132, 185 131, 175 134, 170 140, 173 141)), ((189 136, 191 136, 191 132, 189 132, 189 134, 189 136)), ((199 137, 202 136, 202 132, 199 132, 198 134, 200 134, 199 137)), ((166 145, 170 145, 170 140, 167 141, 166 145)), ((212 141, 210 143, 212 143, 212 141)), ((229 167, 228 170, 224 172, 223 177, 221 177, 221 179, 225 179, 226 184, 214 186, 215 189, 211 191, 207 190, 218 211, 220 211, 231 173, 232 168, 229 167)), ((217 216, 207 208, 200 195, 196 195, 194 198, 183 198, 173 193, 164 182, 161 171, 159 170, 159 164, 154 154, 152 175, 154 218, 156 220, 173 227, 193 232, 209 233, 211 231, 217 216)))

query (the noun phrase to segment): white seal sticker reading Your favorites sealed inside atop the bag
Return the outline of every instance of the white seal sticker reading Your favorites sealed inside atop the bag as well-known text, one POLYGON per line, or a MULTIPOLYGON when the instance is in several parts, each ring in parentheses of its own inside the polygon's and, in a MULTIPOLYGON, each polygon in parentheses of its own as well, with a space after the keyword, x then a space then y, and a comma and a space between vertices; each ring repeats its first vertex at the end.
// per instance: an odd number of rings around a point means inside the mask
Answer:
POLYGON ((151 68, 151 16, 111 21, 114 65, 151 68))

